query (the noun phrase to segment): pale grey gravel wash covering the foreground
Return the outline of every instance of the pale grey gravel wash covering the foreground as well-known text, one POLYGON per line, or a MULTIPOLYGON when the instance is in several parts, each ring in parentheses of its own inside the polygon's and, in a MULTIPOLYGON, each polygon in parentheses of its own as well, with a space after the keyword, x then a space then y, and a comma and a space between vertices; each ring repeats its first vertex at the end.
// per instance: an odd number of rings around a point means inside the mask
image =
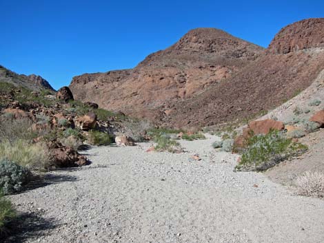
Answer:
POLYGON ((215 152, 215 139, 183 141, 185 154, 146 153, 150 144, 90 149, 92 165, 52 172, 47 186, 11 196, 43 220, 24 240, 324 242, 324 200, 294 196, 261 173, 234 173, 236 156, 215 152), (202 160, 190 160, 195 153, 202 160))

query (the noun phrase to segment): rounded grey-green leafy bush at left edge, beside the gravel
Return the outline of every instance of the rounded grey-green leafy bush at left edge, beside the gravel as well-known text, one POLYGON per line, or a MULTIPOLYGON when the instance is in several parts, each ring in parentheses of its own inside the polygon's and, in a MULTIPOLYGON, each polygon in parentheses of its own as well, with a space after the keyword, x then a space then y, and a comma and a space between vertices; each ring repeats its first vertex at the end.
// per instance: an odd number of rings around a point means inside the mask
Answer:
POLYGON ((21 191, 32 173, 26 168, 10 160, 0 160, 0 188, 3 193, 9 194, 21 191))

